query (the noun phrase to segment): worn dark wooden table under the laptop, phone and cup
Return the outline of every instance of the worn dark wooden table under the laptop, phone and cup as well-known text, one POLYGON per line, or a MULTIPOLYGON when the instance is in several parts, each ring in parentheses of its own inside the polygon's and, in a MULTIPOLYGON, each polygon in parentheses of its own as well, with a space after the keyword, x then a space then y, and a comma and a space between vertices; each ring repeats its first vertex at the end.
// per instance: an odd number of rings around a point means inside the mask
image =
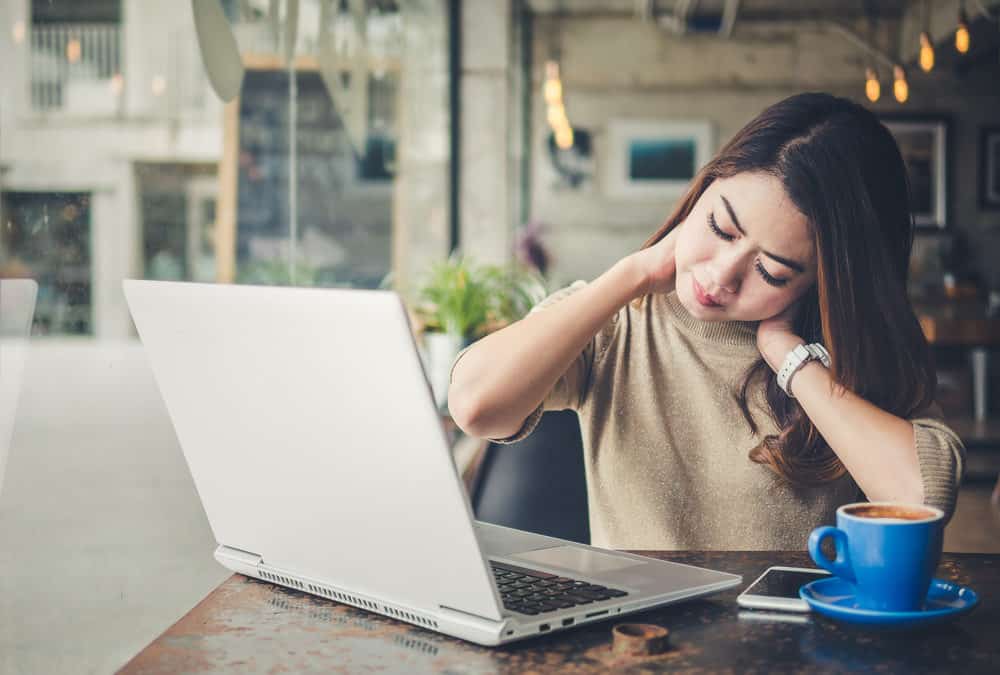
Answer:
MULTIPOLYGON (((812 567, 804 552, 645 552, 742 574, 812 567)), ((346 605, 234 575, 122 673, 1000 672, 1000 555, 946 554, 943 579, 979 593, 973 612, 919 630, 865 630, 820 615, 742 610, 743 587, 625 617, 670 630, 670 651, 616 660, 617 621, 485 648, 346 605)))

